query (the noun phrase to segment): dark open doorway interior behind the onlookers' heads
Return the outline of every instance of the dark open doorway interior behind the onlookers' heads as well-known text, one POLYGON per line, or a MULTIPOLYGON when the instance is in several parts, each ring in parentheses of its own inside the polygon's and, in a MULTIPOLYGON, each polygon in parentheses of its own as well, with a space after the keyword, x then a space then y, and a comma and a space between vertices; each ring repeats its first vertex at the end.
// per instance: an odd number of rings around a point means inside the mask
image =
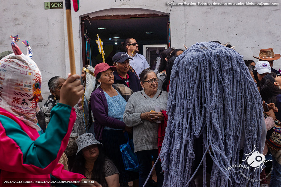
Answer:
MULTIPOLYGON (((82 36, 86 34, 88 39, 88 42, 85 37, 82 39, 83 66, 85 64, 91 64, 95 67, 96 64, 103 61, 98 51, 98 45, 95 43, 97 34, 101 38, 101 41, 103 41, 105 62, 110 66, 113 65, 113 55, 120 51, 125 52, 122 48, 122 42, 126 38, 134 38, 139 45, 139 54, 144 56, 146 56, 144 45, 159 45, 159 50, 157 50, 158 48, 154 50, 155 53, 157 51, 157 54, 151 55, 153 58, 159 57, 163 50, 160 46, 168 46, 169 43, 168 23, 169 17, 159 14, 81 17, 82 36), (90 62, 89 58, 87 60, 87 51, 88 57, 89 51, 91 52, 90 62)), ((154 62, 153 59, 147 60, 154 62)), ((155 68, 155 64, 150 63, 150 67, 151 69, 155 68)))

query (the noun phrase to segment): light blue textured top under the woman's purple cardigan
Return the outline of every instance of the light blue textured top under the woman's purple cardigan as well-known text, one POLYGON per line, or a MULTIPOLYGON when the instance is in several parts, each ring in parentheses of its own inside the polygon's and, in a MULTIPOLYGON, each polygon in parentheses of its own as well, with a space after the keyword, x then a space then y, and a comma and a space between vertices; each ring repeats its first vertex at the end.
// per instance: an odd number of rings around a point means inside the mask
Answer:
MULTIPOLYGON (((104 95, 106 97, 107 105, 108 105, 108 116, 113 117, 117 120, 123 121, 123 114, 124 114, 125 106, 126 106, 127 102, 125 101, 125 99, 122 97, 122 95, 118 91, 117 91, 117 93, 118 93, 118 95, 110 97, 104 91, 104 95)), ((112 128, 105 126, 104 129, 108 130, 108 129, 112 129, 112 128)), ((114 130, 122 130, 122 129, 114 129, 114 130)))

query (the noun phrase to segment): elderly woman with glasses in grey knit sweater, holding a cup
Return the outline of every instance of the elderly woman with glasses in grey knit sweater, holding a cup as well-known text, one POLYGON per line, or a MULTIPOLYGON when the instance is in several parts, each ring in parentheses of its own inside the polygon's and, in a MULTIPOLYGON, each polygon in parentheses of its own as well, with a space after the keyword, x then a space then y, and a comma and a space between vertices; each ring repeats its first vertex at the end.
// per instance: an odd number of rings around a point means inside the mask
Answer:
MULTIPOLYGON (((154 162, 158 157, 159 135, 156 121, 163 121, 164 115, 162 112, 150 111, 154 111, 155 106, 160 106, 160 111, 165 111, 168 99, 168 93, 157 88, 158 81, 153 70, 142 71, 140 84, 144 90, 131 95, 123 116, 125 124, 133 127, 134 151, 139 162, 139 186, 143 186, 148 177, 152 156, 154 162)), ((158 186, 162 186, 164 177, 160 162, 157 162, 155 169, 158 186)))

